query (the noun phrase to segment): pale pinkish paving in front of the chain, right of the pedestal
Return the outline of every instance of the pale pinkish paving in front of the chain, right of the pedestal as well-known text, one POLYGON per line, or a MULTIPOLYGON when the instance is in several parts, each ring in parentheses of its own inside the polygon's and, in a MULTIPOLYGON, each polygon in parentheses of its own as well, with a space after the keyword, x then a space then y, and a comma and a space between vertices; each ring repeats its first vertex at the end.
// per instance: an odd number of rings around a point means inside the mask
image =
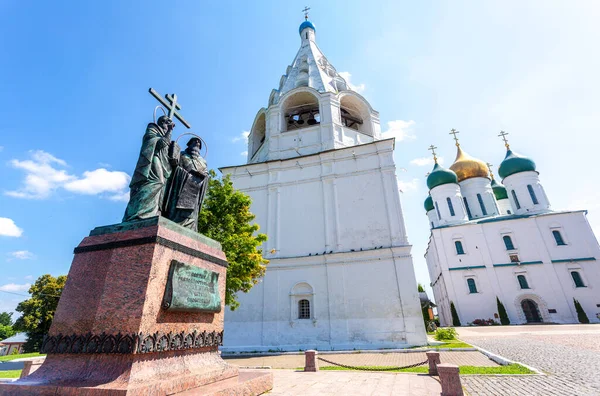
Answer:
POLYGON ((273 370, 273 376, 268 394, 277 396, 439 396, 442 389, 433 377, 404 373, 273 370))

